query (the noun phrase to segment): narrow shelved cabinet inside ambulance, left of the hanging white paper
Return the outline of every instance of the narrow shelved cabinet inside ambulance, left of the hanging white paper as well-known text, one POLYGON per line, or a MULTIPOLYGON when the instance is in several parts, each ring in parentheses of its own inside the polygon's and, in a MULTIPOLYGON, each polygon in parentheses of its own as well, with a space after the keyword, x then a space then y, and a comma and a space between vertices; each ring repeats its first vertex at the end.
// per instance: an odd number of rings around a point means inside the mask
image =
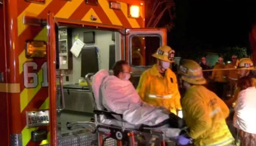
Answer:
POLYGON ((67 27, 59 27, 59 69, 72 69, 72 30, 67 27))

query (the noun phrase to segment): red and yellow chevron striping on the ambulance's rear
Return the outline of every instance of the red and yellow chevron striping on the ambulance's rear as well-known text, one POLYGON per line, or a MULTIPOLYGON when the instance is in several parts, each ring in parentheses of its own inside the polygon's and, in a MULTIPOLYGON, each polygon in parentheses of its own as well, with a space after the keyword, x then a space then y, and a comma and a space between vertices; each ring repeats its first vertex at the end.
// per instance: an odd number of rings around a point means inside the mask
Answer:
MULTIPOLYGON (((47 13, 52 12, 56 18, 63 18, 69 20, 79 20, 87 22, 96 22, 107 25, 123 26, 126 28, 140 28, 144 27, 144 13, 141 11, 141 16, 137 19, 128 17, 128 4, 125 0, 120 0, 121 10, 114 10, 109 8, 109 0, 98 0, 98 6, 87 5, 85 0, 46 0, 45 4, 36 4, 25 2, 24 0, 18 0, 18 16, 17 16, 17 36, 18 36, 18 47, 15 50, 19 66, 19 75, 17 77, 20 83, 20 114, 21 114, 21 127, 20 133, 22 133, 23 146, 35 145, 30 140, 30 133, 37 129, 48 129, 49 127, 40 128, 26 128, 26 111, 48 109, 49 98, 48 98, 48 87, 42 87, 38 84, 35 88, 25 88, 23 79, 23 64, 28 61, 36 62, 38 68, 31 70, 38 74, 38 83, 43 80, 43 69, 41 66, 46 59, 27 59, 25 57, 24 43, 28 39, 34 40, 45 40, 47 41, 47 29, 46 27, 31 26, 23 24, 24 16, 35 16, 38 18, 47 18, 47 13), (96 21, 90 19, 91 15, 98 17, 96 21)), ((134 2, 132 0, 131 2, 134 2)), ((140 4, 141 1, 137 1, 136 4, 140 4)), ((144 10, 144 7, 143 7, 144 10)), ((48 134, 49 137, 49 134, 48 134)), ((47 144, 49 139, 37 143, 47 144)))

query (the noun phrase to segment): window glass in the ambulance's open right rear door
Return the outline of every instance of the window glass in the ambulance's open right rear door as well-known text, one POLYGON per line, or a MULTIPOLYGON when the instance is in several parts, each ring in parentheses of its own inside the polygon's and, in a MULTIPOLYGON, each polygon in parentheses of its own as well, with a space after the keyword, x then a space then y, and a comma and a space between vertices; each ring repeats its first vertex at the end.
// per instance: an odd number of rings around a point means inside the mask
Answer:
POLYGON ((160 47, 159 36, 131 37, 131 64, 133 66, 150 66, 155 63, 151 55, 160 47))

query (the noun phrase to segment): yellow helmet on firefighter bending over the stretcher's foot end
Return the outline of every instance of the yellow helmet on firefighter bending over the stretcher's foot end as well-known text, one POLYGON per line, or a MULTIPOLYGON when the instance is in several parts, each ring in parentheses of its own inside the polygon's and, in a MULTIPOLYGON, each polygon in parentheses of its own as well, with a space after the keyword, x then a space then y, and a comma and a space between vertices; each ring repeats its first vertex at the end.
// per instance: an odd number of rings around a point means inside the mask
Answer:
POLYGON ((206 84, 201 66, 193 60, 183 60, 184 63, 179 68, 181 79, 190 84, 202 85, 206 84))

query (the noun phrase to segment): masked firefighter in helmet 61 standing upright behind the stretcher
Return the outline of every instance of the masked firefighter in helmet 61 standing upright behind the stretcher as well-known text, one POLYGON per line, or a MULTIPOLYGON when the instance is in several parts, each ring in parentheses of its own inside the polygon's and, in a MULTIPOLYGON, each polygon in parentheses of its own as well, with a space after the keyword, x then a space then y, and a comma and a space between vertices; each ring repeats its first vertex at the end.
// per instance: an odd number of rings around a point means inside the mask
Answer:
POLYGON ((156 64, 142 73, 137 87, 141 99, 154 106, 162 106, 177 115, 181 110, 177 78, 169 68, 175 51, 169 46, 159 47, 152 56, 156 64))

